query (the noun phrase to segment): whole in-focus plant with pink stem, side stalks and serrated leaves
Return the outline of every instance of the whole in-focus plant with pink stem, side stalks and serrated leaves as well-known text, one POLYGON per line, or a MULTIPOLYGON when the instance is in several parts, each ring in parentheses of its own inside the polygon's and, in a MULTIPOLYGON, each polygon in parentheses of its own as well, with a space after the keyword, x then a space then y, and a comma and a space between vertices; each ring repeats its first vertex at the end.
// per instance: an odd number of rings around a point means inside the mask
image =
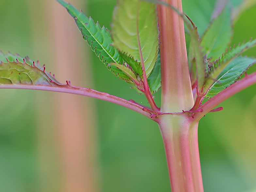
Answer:
POLYGON ((59 83, 45 67, 28 57, 0 52, 0 88, 38 89, 80 94, 132 109, 158 123, 166 151, 173 192, 202 192, 198 122, 218 104, 256 83, 246 70, 255 58, 241 56, 256 44, 250 40, 230 47, 230 6, 216 6, 216 16, 203 35, 181 0, 119 0, 111 31, 71 4, 64 6, 84 40, 108 70, 144 94, 150 106, 90 88, 59 83), (185 23, 185 29, 184 29, 185 23), (190 37, 186 49, 185 31, 190 37), (245 77, 238 81, 245 73, 245 77), (153 94, 161 87, 161 106, 153 94), (209 100, 203 103, 203 99, 209 100))

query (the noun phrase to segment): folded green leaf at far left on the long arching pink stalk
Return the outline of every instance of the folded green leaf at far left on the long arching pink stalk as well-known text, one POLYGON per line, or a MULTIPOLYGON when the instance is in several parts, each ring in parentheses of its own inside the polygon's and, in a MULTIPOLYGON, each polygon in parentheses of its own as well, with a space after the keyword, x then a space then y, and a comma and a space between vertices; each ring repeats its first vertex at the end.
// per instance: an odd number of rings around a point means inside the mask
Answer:
POLYGON ((0 52, 0 84, 56 86, 59 83, 45 72, 45 67, 28 57, 0 52))

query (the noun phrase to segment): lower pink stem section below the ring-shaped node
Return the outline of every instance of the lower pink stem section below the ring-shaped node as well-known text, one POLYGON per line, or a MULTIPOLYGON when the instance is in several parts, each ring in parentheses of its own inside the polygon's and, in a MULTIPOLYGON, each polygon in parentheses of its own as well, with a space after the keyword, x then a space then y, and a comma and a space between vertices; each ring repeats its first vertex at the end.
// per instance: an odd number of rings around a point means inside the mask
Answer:
POLYGON ((203 192, 198 122, 186 115, 159 118, 172 192, 203 192))

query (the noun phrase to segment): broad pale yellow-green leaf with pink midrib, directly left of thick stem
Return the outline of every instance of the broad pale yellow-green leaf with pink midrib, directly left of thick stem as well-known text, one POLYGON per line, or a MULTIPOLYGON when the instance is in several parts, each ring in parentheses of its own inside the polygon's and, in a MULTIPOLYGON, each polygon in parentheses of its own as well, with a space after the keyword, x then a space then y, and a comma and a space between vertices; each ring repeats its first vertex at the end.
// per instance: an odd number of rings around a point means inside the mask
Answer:
POLYGON ((147 77, 157 58, 158 36, 159 30, 154 4, 140 0, 118 1, 113 14, 113 45, 121 52, 133 56, 138 62, 141 62, 141 47, 147 77))

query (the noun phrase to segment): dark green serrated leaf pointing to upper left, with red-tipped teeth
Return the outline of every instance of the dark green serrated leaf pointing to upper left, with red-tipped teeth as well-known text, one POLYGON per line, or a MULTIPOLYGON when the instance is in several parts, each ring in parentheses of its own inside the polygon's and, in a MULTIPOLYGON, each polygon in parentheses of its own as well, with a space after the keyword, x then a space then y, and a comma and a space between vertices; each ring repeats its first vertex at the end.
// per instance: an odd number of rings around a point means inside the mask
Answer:
POLYGON ((84 40, 88 42, 91 50, 95 52, 105 66, 121 79, 130 81, 129 77, 116 66, 111 67, 111 69, 110 66, 108 66, 108 63, 122 64, 123 62, 118 50, 111 46, 113 41, 109 30, 104 26, 101 28, 98 22, 95 24, 91 17, 88 18, 81 10, 78 11, 71 4, 62 0, 57 1, 65 7, 74 18, 84 40))

